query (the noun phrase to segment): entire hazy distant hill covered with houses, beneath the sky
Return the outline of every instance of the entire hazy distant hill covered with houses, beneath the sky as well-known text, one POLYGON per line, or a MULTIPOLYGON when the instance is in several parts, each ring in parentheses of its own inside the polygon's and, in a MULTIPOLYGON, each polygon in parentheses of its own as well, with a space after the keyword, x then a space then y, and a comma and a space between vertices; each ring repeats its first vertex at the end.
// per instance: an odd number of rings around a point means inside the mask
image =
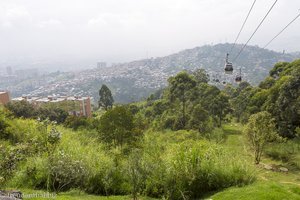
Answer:
MULTIPOLYGON (((115 64, 111 67, 84 70, 81 72, 60 72, 56 75, 43 77, 39 85, 30 91, 20 90, 18 94, 31 95, 78 94, 98 98, 98 90, 105 83, 112 88, 117 102, 136 101, 149 96, 150 93, 165 87, 167 79, 182 70, 204 68, 211 79, 233 83, 238 69, 242 69, 243 79, 257 85, 269 70, 279 61, 290 62, 300 57, 299 53, 275 52, 258 46, 247 46, 234 64, 234 74, 223 72, 226 53, 232 44, 205 45, 187 49, 165 57, 115 64)), ((230 61, 237 55, 242 45, 236 45, 230 55, 230 61)), ((36 81, 35 81, 36 83, 36 81)), ((212 84, 219 84, 212 81, 212 84)), ((28 85, 28 81, 27 81, 28 85)), ((35 84, 30 84, 30 86, 35 84)), ((27 87, 28 88, 28 87, 27 87)), ((12 93, 14 94, 13 88, 12 93)), ((15 93, 16 94, 16 93, 15 93)))

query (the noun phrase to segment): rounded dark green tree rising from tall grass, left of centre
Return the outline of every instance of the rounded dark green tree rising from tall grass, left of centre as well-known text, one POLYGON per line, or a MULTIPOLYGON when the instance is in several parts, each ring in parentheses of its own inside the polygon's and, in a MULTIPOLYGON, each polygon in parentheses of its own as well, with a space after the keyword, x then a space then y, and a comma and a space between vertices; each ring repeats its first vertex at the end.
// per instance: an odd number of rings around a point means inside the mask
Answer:
POLYGON ((133 144, 141 136, 136 128, 134 117, 126 106, 115 107, 100 118, 101 139, 115 147, 133 144))

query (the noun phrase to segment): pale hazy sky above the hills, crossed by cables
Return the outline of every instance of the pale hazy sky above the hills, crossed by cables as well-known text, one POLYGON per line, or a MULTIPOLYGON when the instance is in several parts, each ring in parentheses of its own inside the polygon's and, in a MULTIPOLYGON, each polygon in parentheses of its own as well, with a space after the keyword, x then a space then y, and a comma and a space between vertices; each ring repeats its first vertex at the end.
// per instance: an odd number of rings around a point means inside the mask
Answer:
MULTIPOLYGON (((233 42, 253 0, 0 0, 0 59, 123 62, 233 42)), ((274 0, 257 0, 245 42, 274 0)), ((300 11, 278 3, 254 36, 263 46, 300 11)), ((300 18, 270 46, 300 51, 300 18)))

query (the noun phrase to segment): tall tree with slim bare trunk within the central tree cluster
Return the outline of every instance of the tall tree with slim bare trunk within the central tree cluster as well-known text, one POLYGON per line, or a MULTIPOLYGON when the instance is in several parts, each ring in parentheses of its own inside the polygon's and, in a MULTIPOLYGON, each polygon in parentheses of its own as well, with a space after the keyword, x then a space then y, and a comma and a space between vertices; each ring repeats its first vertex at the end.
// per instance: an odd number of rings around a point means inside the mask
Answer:
POLYGON ((180 72, 169 80, 170 101, 179 100, 182 104, 182 128, 186 125, 186 102, 192 96, 193 89, 196 87, 196 81, 187 72, 180 72))

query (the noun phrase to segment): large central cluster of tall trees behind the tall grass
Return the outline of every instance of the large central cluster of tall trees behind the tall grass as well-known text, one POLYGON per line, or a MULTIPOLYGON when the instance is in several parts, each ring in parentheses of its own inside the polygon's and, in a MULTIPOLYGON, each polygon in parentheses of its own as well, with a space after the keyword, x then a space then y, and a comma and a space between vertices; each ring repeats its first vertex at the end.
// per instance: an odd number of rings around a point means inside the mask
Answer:
POLYGON ((204 70, 181 72, 169 80, 158 100, 148 99, 140 113, 155 129, 194 129, 202 134, 221 126, 230 113, 229 96, 207 83, 204 70))

